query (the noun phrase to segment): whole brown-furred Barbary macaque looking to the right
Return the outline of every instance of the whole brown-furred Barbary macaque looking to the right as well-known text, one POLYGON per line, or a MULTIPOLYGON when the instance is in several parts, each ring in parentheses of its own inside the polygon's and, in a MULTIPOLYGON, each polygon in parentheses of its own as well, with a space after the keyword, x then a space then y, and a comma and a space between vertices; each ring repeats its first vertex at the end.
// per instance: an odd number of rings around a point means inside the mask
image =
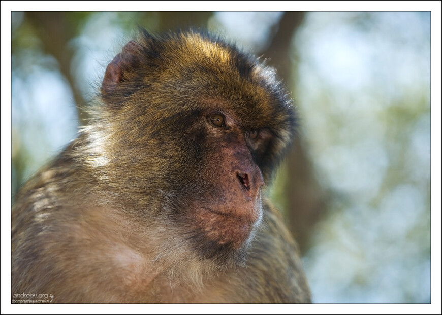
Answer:
POLYGON ((195 31, 145 30, 94 118, 15 197, 12 293, 55 303, 307 303, 263 198, 295 133, 274 69, 195 31))

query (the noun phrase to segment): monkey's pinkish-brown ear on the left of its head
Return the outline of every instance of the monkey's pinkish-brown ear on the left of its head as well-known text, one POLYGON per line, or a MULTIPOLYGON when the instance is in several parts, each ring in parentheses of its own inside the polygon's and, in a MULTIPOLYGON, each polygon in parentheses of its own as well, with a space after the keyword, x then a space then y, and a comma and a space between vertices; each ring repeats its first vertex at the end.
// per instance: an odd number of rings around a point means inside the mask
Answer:
POLYGON ((123 50, 115 56, 106 68, 101 84, 102 93, 112 93, 119 82, 128 79, 127 75, 140 61, 139 54, 141 51, 141 45, 135 41, 130 41, 124 46, 123 50))

